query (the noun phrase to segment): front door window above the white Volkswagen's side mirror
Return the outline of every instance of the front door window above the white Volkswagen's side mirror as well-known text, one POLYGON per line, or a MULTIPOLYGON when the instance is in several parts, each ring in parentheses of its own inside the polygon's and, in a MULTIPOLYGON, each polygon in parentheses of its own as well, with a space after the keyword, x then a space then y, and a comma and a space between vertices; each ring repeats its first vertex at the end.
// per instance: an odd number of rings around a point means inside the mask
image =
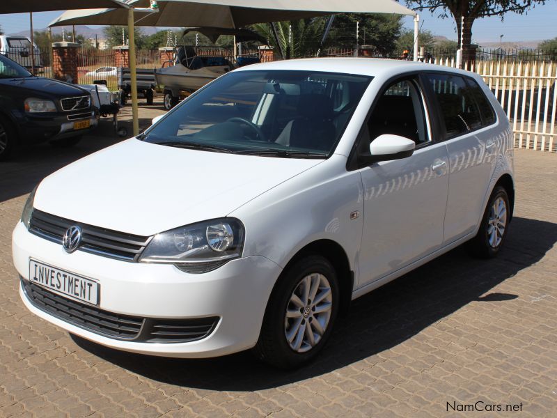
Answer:
POLYGON ((367 127, 370 141, 382 134, 394 134, 418 145, 427 142, 425 111, 417 84, 407 79, 387 86, 375 104, 367 127))

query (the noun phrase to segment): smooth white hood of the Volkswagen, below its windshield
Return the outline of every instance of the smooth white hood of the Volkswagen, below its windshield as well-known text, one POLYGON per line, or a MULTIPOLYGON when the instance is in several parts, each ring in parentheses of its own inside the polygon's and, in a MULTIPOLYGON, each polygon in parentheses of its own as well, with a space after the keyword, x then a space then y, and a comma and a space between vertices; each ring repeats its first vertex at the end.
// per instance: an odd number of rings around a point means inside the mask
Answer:
POLYGON ((323 160, 212 153, 128 139, 42 180, 35 208, 152 235, 224 217, 323 160))

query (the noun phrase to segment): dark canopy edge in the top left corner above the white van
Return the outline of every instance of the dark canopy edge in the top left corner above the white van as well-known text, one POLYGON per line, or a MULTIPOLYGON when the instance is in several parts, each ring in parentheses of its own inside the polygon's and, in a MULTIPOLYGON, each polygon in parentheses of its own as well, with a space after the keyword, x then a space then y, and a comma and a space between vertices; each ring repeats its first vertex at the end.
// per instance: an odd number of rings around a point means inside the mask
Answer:
POLYGON ((0 14, 52 12, 55 10, 127 7, 118 0, 2 0, 0 14))

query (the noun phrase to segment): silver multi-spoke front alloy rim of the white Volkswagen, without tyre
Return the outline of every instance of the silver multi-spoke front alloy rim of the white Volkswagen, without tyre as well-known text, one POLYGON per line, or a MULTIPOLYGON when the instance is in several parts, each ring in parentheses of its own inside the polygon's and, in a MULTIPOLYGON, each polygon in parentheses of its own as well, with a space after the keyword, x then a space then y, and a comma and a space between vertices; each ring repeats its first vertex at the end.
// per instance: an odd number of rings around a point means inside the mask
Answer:
POLYGON ((284 334, 292 350, 306 353, 321 341, 331 319, 332 307, 333 293, 327 277, 313 273, 299 281, 284 318, 284 334))

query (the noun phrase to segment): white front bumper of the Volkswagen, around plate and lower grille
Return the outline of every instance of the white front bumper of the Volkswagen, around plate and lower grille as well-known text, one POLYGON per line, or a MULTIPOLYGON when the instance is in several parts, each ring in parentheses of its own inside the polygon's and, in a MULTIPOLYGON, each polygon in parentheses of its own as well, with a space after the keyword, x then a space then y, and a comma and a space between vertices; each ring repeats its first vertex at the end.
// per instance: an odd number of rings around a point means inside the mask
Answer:
POLYGON ((29 280, 29 258, 95 279, 99 308, 115 314, 148 318, 219 317, 212 333, 186 343, 122 341, 68 323, 31 303, 20 286, 26 307, 55 325, 104 346, 167 357, 214 357, 255 346, 267 300, 281 268, 265 257, 230 261, 205 274, 188 274, 173 265, 130 263, 76 251, 29 233, 19 222, 13 232, 13 261, 29 280))

